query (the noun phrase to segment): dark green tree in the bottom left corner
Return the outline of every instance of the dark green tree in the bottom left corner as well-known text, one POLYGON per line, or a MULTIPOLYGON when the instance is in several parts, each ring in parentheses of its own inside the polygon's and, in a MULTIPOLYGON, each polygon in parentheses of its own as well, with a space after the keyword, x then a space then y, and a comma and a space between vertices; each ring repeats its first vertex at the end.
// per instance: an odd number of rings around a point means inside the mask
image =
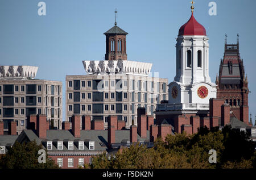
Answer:
POLYGON ((38 150, 43 149, 42 144, 37 145, 35 141, 29 143, 15 142, 12 148, 0 160, 0 168, 4 169, 52 169, 59 168, 55 161, 48 158, 46 153, 46 163, 39 163, 38 150))

